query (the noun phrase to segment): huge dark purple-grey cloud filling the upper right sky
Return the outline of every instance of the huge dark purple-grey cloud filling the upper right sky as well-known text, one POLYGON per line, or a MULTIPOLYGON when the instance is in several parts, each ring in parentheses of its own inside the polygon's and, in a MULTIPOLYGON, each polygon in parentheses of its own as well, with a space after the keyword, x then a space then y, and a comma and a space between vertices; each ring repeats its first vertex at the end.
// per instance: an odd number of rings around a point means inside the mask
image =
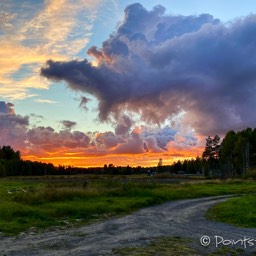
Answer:
MULTIPOLYGON (((161 124, 183 113, 182 125, 204 135, 255 126, 256 16, 222 24, 210 14, 168 16, 164 11, 128 6, 116 32, 100 49, 88 50, 97 66, 86 59, 49 60, 41 74, 94 95, 101 120, 118 120, 125 111, 161 124)), ((129 129, 123 121, 116 133, 129 129)), ((164 136, 174 136, 166 132, 148 144, 165 149, 164 136)), ((145 149, 137 143, 138 150, 145 149)))

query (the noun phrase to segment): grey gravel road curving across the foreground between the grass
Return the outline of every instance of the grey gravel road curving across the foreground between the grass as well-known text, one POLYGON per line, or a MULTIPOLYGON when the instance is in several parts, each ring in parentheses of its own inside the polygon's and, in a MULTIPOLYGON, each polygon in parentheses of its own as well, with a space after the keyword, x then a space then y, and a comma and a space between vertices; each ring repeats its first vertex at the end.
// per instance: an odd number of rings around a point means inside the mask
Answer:
MULTIPOLYGON (((168 202, 80 228, 2 237, 0 255, 112 255, 113 248, 143 246, 161 236, 192 238, 191 246, 200 255, 207 255, 216 250, 216 239, 221 239, 215 236, 223 237, 225 243, 244 237, 256 239, 256 229, 236 228, 204 218, 209 207, 226 199, 208 197, 168 202), (211 244, 206 247, 200 244, 200 238, 204 235, 211 238, 211 244)), ((247 242, 239 247, 244 249, 246 245, 245 252, 250 255, 256 252, 256 240, 253 243, 254 246, 249 246, 247 242)))

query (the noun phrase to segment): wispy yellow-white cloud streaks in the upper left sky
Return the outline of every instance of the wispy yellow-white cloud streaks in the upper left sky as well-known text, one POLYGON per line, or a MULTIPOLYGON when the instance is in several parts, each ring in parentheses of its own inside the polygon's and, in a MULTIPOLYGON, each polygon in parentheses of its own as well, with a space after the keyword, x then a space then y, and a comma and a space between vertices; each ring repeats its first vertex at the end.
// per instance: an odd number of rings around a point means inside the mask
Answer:
POLYGON ((105 0, 45 0, 1 4, 0 95, 6 99, 33 96, 47 89, 39 68, 48 59, 73 58, 89 42, 97 12, 105 0), (33 65, 28 73, 23 65, 33 65), (13 76, 19 73, 19 78, 13 76))

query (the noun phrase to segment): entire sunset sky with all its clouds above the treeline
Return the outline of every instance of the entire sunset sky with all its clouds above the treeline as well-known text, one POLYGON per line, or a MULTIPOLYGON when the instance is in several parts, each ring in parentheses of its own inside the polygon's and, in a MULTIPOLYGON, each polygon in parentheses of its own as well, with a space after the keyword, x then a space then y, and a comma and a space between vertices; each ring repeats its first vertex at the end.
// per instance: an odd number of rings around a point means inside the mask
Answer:
POLYGON ((0 145, 155 166, 256 126, 255 0, 3 0, 0 145), (161 4, 161 5, 160 5, 161 4))

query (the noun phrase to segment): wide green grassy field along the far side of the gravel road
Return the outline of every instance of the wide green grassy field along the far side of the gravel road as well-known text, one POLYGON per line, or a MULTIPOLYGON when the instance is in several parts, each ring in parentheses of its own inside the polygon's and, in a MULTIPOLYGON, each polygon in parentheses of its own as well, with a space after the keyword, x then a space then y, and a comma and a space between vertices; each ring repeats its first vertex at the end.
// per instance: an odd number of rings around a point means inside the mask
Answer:
POLYGON ((83 182, 0 182, 0 232, 18 234, 31 227, 82 224, 136 209, 185 198, 256 192, 253 181, 161 184, 123 179, 83 182))

